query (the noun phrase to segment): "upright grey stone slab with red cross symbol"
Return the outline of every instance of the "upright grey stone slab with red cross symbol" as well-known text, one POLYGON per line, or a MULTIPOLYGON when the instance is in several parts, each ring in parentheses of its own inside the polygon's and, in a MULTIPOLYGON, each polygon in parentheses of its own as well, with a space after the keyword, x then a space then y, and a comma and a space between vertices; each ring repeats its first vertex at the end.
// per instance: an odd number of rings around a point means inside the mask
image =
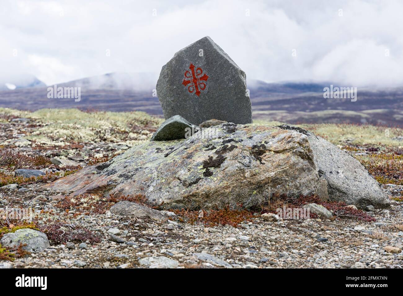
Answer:
POLYGON ((165 119, 180 115, 196 125, 210 119, 252 122, 245 72, 208 36, 162 67, 156 89, 165 119))

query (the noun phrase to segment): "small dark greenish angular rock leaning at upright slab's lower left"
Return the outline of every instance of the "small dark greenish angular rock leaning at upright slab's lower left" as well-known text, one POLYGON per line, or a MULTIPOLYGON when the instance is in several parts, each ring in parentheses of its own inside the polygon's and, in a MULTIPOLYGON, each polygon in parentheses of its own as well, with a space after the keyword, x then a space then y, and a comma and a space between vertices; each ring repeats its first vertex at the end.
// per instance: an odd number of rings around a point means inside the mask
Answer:
POLYGON ((186 135, 192 135, 199 130, 198 126, 191 124, 185 118, 179 115, 162 122, 150 141, 170 141, 185 139, 186 135), (190 131, 190 132, 189 132, 190 131))

